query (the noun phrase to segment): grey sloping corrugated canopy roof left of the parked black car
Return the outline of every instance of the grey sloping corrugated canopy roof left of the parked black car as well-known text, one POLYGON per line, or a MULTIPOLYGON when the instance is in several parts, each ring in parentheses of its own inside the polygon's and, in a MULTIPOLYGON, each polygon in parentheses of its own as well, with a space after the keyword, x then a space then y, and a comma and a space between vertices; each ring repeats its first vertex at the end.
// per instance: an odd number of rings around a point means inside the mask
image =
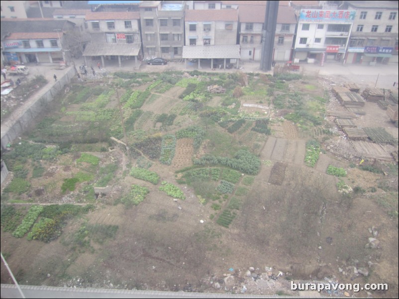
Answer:
POLYGON ((137 56, 140 51, 140 44, 93 44, 87 45, 83 56, 101 56, 101 55, 120 55, 137 56))

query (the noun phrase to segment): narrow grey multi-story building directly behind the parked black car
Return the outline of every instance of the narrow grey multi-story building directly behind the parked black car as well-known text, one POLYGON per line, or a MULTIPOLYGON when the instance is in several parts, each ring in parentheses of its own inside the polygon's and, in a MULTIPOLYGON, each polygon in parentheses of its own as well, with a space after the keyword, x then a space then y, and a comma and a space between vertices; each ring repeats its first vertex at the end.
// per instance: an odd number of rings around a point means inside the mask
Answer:
POLYGON ((140 5, 144 56, 181 59, 185 1, 143 1, 140 5))

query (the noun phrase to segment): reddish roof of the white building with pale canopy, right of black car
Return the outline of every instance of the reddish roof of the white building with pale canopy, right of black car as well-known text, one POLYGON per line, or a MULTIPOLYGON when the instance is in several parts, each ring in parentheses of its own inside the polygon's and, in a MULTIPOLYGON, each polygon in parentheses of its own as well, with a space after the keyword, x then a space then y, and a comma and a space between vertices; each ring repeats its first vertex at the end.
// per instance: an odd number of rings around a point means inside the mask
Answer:
POLYGON ((225 21, 237 22, 238 11, 236 9, 196 9, 186 10, 185 21, 225 21))

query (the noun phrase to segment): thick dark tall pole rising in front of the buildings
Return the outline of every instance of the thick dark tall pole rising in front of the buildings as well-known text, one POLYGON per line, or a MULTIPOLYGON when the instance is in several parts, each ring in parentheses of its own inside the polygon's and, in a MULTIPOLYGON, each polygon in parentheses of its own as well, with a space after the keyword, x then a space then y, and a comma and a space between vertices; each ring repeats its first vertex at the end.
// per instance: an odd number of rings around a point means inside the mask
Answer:
POLYGON ((265 23, 263 25, 263 43, 260 63, 260 69, 262 71, 272 70, 274 37, 276 35, 278 12, 279 1, 267 1, 265 23))

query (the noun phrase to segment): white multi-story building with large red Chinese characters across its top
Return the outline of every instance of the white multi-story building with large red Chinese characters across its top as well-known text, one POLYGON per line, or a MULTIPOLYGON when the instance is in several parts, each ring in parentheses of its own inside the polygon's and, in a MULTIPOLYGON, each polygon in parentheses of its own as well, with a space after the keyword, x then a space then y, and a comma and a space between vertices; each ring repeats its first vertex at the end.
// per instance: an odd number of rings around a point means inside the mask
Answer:
POLYGON ((343 9, 301 9, 295 59, 321 65, 325 61, 343 62, 355 13, 343 9))

